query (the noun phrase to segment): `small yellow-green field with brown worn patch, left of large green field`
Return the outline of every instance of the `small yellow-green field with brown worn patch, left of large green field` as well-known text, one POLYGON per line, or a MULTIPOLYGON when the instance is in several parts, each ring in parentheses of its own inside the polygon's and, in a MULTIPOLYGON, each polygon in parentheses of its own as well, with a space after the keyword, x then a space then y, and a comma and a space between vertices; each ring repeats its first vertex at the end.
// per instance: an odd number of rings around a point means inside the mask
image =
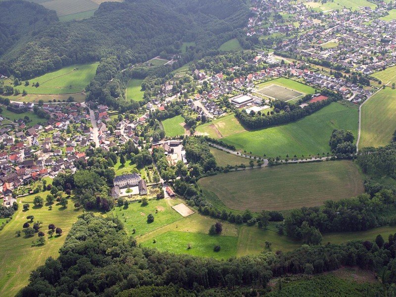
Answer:
POLYGON ((211 122, 207 122, 203 125, 199 125, 196 129, 197 134, 207 135, 214 139, 219 139, 241 133, 246 131, 244 127, 239 123, 239 120, 235 115, 229 114, 211 122))

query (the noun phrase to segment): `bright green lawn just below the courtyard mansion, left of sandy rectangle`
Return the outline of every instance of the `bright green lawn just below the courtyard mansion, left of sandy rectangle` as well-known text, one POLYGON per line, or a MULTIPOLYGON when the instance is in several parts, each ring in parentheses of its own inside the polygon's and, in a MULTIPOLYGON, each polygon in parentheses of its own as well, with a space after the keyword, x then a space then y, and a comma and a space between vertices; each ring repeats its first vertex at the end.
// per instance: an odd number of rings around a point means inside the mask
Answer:
POLYGON ((171 206, 168 199, 149 200, 148 205, 142 206, 141 203, 131 203, 128 208, 115 207, 112 213, 121 218, 125 229, 129 234, 136 230, 136 235, 144 235, 162 226, 176 222, 183 217, 171 206), (155 213, 157 211, 157 213, 155 213), (149 213, 154 215, 154 222, 148 224, 147 216, 149 213))

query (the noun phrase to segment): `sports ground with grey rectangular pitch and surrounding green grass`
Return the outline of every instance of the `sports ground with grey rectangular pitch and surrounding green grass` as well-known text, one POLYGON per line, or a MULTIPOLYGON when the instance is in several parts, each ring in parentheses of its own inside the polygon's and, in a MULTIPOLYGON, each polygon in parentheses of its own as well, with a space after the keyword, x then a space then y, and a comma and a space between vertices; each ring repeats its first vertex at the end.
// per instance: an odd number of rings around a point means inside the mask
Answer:
POLYGON ((312 87, 284 77, 258 84, 255 86, 255 88, 257 90, 256 92, 260 95, 267 96, 271 99, 276 98, 283 101, 288 101, 304 94, 317 93, 316 90, 312 87), (276 86, 278 86, 278 88, 276 86))

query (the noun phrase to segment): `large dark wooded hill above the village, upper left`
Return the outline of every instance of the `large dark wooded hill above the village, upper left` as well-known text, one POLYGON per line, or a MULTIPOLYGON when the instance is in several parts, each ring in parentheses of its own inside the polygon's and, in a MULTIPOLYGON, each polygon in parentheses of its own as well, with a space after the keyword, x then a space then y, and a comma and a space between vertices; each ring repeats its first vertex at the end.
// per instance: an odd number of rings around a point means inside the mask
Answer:
POLYGON ((0 14, 9 23, 0 26, 0 40, 7 40, 2 50, 9 51, 0 56, 0 73, 23 79, 110 56, 121 66, 144 62, 161 51, 180 52, 183 42, 195 41, 197 51, 217 48, 249 13, 242 0, 125 0, 102 3, 89 19, 57 22, 53 11, 32 4, 37 16, 27 3, 3 1, 0 14), (15 20, 10 11, 18 12, 15 20))

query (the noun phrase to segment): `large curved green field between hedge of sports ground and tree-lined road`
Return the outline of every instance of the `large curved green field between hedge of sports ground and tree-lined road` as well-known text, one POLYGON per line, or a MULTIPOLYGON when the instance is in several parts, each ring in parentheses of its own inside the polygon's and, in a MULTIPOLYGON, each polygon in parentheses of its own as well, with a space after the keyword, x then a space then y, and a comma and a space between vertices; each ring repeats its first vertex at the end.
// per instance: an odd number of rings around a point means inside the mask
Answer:
MULTIPOLYGON (((197 131, 204 128, 201 127, 198 126, 197 131)), ((259 156, 308 156, 330 152, 329 139, 335 128, 351 130, 357 138, 358 107, 350 103, 334 102, 297 122, 286 125, 252 131, 243 131, 243 127, 239 126, 241 133, 237 132, 236 127, 232 127, 229 136, 224 137, 222 141, 259 156)), ((224 130, 227 131, 227 127, 224 130)), ((204 131, 211 137, 218 135, 209 127, 204 131)))

